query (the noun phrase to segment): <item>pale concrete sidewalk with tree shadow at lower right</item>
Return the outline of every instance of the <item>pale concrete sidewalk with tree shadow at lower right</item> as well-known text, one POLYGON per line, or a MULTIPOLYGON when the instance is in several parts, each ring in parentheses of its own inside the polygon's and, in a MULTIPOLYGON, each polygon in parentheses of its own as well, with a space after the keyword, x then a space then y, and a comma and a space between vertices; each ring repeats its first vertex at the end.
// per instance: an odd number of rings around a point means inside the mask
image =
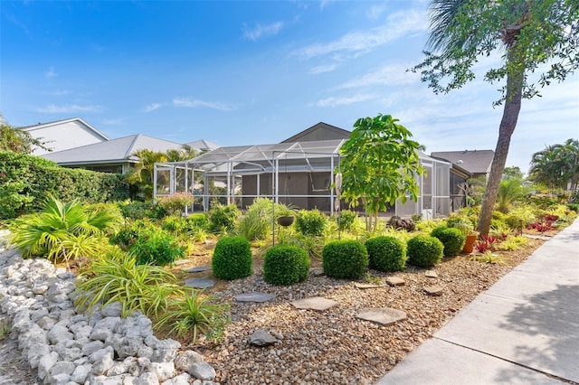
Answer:
POLYGON ((376 382, 579 383, 579 219, 376 382))

